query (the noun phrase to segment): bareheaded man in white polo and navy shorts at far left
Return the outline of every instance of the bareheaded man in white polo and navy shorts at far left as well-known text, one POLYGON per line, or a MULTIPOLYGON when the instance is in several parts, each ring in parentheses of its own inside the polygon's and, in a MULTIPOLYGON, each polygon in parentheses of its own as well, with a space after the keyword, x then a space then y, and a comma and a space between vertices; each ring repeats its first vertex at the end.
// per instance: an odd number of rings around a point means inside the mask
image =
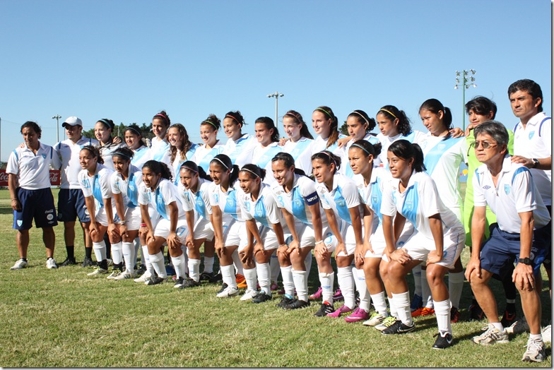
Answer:
POLYGON ((42 130, 38 124, 27 121, 21 126, 20 132, 25 146, 13 150, 6 167, 13 209, 13 228, 18 230, 16 242, 20 257, 10 270, 28 266, 29 229, 33 227, 33 219, 35 226, 42 228, 46 267, 58 268, 54 260, 56 235, 53 228, 58 222, 54 197, 50 190, 49 166, 59 168, 59 158, 51 146, 40 143, 42 130))

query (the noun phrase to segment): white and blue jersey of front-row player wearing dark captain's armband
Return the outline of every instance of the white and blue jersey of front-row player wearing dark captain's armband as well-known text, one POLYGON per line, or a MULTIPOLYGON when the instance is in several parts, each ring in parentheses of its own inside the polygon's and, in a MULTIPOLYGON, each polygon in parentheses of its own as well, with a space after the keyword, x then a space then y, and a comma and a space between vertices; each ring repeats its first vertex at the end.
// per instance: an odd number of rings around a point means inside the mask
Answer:
POLYGON ((271 186, 271 191, 273 191, 275 195, 279 208, 285 208, 288 213, 295 217, 295 220, 306 225, 313 224, 310 205, 319 205, 319 211, 322 215, 322 224, 324 226, 327 225, 327 217, 322 209, 321 203, 319 203, 315 182, 309 177, 295 174, 293 189, 288 193, 283 189, 283 186, 278 183, 271 186))

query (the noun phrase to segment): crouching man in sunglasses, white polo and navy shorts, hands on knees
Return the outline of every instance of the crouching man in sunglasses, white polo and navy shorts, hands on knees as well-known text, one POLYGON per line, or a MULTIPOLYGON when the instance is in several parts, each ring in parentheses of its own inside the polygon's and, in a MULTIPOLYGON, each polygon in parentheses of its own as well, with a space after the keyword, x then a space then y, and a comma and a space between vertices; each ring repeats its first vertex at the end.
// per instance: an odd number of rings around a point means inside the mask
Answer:
POLYGON ((476 169, 473 177, 473 249, 466 277, 489 324, 485 333, 473 337, 473 342, 481 345, 508 342, 488 281, 493 274, 504 277, 507 266, 515 261, 512 279, 519 290, 531 332, 522 360, 542 362, 546 355, 536 277, 540 276, 541 263, 551 246, 550 215, 529 169, 512 162, 507 153, 505 127, 497 121, 486 121, 474 129, 474 134, 476 157, 483 165, 476 169), (490 239, 483 244, 486 205, 495 213, 497 224, 490 232, 490 239))

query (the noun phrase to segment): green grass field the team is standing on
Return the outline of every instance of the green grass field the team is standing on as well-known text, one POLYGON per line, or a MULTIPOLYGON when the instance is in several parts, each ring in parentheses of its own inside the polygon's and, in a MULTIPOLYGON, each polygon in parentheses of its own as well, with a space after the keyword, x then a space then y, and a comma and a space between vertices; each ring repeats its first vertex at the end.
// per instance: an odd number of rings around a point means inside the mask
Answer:
MULTIPOLYGON (((284 311, 275 306, 276 296, 272 302, 251 304, 237 297, 216 298, 220 286, 213 284, 175 290, 172 284, 148 287, 132 280, 90 278, 90 269, 80 266, 48 270, 42 234, 35 228, 30 232, 30 268, 11 271, 18 259, 12 222, 9 193, 0 190, 0 366, 552 366, 550 345, 546 362, 521 362, 526 334, 512 336, 507 345, 473 344, 471 337, 481 333, 485 322, 467 321, 467 282, 462 321, 453 324, 455 345, 437 351, 431 349, 435 316, 417 318, 413 333, 386 336, 361 323, 314 317, 317 305, 284 311)), ((55 256, 61 262, 66 256, 63 227, 56 232, 55 256)), ((76 240, 76 257, 83 261, 79 232, 76 240)), ((464 262, 468 252, 462 255, 464 262)), ((310 292, 317 285, 314 258, 310 292)), ((546 325, 548 290, 541 297, 546 325)), ((503 309, 503 294, 498 300, 503 309)))

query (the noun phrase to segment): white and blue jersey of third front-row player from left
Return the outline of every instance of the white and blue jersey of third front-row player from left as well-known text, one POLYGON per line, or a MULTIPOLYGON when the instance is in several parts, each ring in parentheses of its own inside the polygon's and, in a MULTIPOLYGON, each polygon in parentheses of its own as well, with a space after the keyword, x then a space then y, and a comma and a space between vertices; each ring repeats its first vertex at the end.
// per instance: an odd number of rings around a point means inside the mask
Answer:
POLYGON ((160 179, 154 190, 148 189, 145 186, 143 191, 139 193, 139 204, 148 205, 148 203, 153 203, 155 209, 164 220, 171 220, 169 205, 173 202, 177 205, 177 218, 184 218, 185 214, 181 203, 181 196, 179 196, 179 189, 168 179, 160 179))

